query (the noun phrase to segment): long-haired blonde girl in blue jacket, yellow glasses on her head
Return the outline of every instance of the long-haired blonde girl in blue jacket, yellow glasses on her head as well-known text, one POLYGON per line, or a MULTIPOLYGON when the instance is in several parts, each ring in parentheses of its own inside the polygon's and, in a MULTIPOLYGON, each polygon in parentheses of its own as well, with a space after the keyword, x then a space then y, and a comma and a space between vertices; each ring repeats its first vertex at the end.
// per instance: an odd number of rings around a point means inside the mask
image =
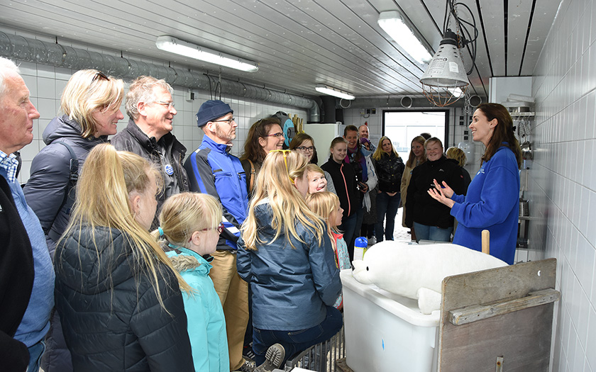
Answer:
POLYGON ((341 283, 327 227, 304 203, 306 169, 297 152, 270 152, 242 225, 238 274, 253 291, 257 363, 275 343, 292 357, 330 339, 343 322, 333 308, 341 283))

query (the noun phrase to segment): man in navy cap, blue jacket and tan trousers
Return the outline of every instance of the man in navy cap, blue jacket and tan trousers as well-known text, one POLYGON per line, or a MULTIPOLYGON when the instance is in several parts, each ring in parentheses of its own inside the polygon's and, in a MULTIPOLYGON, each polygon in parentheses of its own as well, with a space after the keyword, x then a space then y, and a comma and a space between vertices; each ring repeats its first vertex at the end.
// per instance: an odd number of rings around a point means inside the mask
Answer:
POLYGON ((229 153, 238 124, 227 103, 210 100, 199 108, 197 125, 203 130, 203 141, 184 163, 184 168, 192 191, 208 193, 221 203, 225 228, 219 236, 217 251, 211 254, 213 268, 209 276, 226 317, 230 370, 252 371, 254 363, 242 356, 248 323, 248 284, 236 271, 236 242, 248 212, 248 190, 240 159, 229 153))

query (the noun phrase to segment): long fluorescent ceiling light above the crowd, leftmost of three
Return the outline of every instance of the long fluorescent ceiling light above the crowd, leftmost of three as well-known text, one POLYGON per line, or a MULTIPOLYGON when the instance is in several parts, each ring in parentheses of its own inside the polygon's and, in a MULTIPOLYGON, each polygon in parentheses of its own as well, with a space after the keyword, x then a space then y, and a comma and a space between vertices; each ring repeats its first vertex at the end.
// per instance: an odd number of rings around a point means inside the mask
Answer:
POLYGON ((240 57, 234 57, 233 55, 218 52, 217 50, 187 43, 186 41, 179 40, 173 36, 160 36, 158 37, 158 40, 155 41, 155 45, 157 45, 158 49, 165 50, 166 52, 184 55, 185 57, 191 57, 245 72, 257 72, 259 69, 257 62, 244 60, 240 57))

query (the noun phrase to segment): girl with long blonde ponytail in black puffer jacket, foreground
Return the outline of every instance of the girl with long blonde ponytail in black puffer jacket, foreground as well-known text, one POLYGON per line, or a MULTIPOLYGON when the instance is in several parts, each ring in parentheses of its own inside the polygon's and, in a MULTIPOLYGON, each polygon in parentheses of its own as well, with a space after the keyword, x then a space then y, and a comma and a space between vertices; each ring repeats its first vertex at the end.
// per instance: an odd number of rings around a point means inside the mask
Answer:
POLYGON ((161 184, 131 152, 106 144, 87 157, 54 264, 76 371, 192 371, 180 287, 192 288, 148 232, 161 184))

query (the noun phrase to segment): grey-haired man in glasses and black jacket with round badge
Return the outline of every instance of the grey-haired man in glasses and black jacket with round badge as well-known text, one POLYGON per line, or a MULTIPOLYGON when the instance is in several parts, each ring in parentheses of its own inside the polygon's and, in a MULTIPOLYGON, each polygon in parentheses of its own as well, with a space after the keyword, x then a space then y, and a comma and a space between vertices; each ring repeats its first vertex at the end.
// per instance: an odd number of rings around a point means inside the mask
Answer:
POLYGON ((172 86, 163 79, 138 77, 126 94, 126 113, 130 120, 111 144, 117 150, 134 152, 156 164, 163 177, 163 191, 151 225, 158 227, 158 213, 165 199, 189 191, 189 180, 182 167, 186 147, 172 135, 177 111, 172 101, 172 86))

